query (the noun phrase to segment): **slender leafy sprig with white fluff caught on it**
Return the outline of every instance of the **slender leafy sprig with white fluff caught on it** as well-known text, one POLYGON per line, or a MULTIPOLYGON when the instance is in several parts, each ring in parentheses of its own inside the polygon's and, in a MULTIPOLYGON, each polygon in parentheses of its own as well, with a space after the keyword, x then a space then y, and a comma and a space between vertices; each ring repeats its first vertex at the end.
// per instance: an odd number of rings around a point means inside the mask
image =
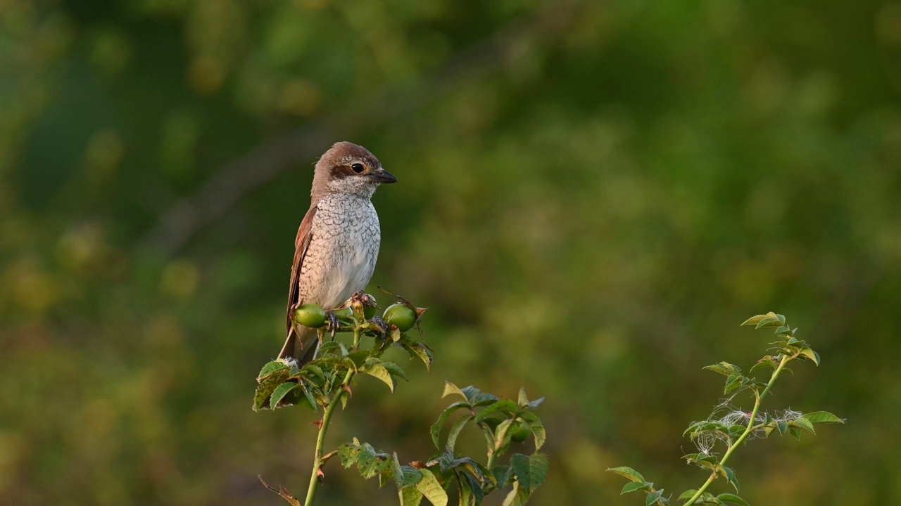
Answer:
MULTIPOLYGON (((678 501, 685 501, 684 506, 690 504, 742 504, 748 501, 731 492, 713 495, 706 492, 707 487, 716 478, 724 478, 726 483, 732 485, 736 493, 740 492, 738 479, 734 471, 725 465, 729 457, 733 455, 735 448, 739 447, 749 438, 768 438, 773 431, 780 436, 790 433, 795 438, 801 438, 801 430, 815 434, 814 423, 844 423, 844 420, 827 411, 811 411, 800 413, 796 411, 782 411, 780 415, 770 414, 769 411, 760 411, 760 404, 776 383, 779 374, 787 370, 786 365, 793 360, 807 359, 820 364, 820 356, 803 340, 795 337, 797 329, 791 329, 786 324, 786 317, 774 312, 753 316, 742 323, 742 326, 750 325, 755 329, 776 327, 777 340, 773 347, 778 351, 776 356, 765 356, 751 367, 749 373, 760 369, 772 369, 768 382, 757 381, 752 376, 743 375, 742 369, 728 362, 720 362, 704 369, 726 376, 724 393, 729 397, 718 405, 707 420, 695 421, 688 425, 683 436, 688 436, 699 450, 698 453, 683 456, 687 464, 696 465, 710 472, 707 481, 699 489, 690 489, 678 495, 678 501), (754 407, 751 412, 736 410, 732 402, 735 397, 744 390, 753 394, 754 407), (718 413, 728 411, 725 416, 718 413), (723 456, 714 453, 714 446, 722 443, 725 446, 723 456)), ((645 492, 645 504, 669 504, 669 498, 663 496, 663 489, 655 490, 653 483, 647 482, 644 476, 632 467, 608 468, 608 472, 619 474, 630 483, 623 486, 622 493, 642 491, 645 492)))

